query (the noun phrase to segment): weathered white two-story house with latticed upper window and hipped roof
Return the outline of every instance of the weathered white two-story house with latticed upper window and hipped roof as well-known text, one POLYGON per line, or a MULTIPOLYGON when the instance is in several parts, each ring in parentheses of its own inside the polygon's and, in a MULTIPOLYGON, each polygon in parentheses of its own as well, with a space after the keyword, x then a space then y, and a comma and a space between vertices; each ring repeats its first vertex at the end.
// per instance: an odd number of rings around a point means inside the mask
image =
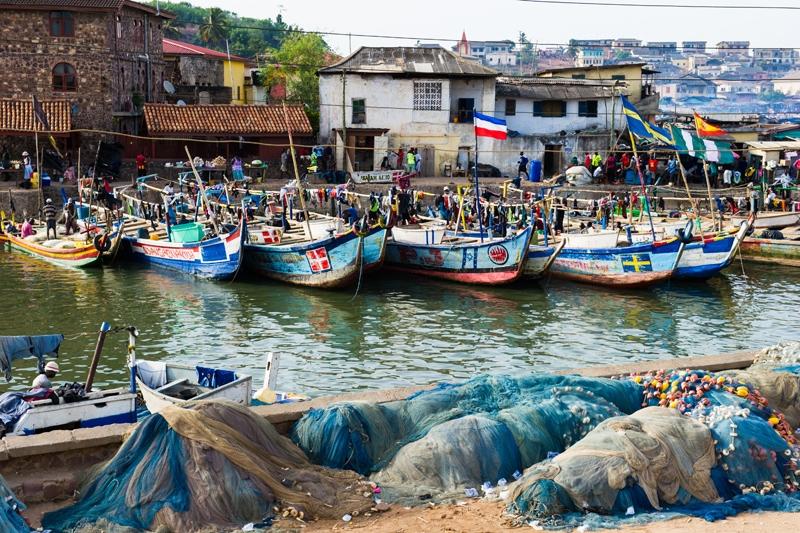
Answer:
POLYGON ((337 168, 373 170, 414 147, 432 176, 475 146, 473 110, 494 110, 498 72, 444 48, 362 47, 318 75, 320 140, 337 168))

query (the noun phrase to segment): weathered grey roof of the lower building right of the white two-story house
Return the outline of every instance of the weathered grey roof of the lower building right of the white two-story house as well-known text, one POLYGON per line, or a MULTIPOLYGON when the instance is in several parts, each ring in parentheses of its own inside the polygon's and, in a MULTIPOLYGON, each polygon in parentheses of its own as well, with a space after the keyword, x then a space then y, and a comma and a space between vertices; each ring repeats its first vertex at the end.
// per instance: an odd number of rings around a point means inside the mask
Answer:
POLYGON ((611 98, 613 82, 599 80, 570 80, 564 78, 526 78, 497 80, 499 97, 531 98, 533 100, 585 100, 611 98))

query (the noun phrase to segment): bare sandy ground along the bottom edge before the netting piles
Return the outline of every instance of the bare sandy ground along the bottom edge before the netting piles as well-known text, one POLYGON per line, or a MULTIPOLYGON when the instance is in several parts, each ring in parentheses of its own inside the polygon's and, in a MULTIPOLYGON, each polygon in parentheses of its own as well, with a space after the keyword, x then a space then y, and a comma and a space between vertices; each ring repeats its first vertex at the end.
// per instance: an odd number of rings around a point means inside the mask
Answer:
MULTIPOLYGON (((274 530, 302 531, 364 531, 376 533, 494 533, 502 531, 533 531, 528 526, 514 526, 502 514, 503 505, 497 502, 470 502, 464 506, 438 505, 407 509, 393 507, 389 511, 371 516, 354 517, 349 523, 319 521, 301 524, 281 520, 274 530), (303 527, 305 526, 305 527, 303 527)), ((795 513, 745 513, 720 522, 706 522, 697 518, 677 518, 655 522, 646 526, 626 527, 626 533, 732 533, 794 531, 800 525, 800 514, 795 513)), ((611 530, 604 530, 611 531, 611 530)))

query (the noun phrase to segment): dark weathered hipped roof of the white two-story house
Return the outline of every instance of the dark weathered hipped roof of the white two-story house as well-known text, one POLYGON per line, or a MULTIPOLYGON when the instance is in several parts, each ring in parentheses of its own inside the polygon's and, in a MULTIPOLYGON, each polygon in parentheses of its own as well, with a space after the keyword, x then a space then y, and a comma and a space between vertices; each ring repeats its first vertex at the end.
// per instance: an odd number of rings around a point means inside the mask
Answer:
POLYGON ((480 63, 444 48, 361 47, 319 74, 437 75, 495 77, 499 74, 480 63))

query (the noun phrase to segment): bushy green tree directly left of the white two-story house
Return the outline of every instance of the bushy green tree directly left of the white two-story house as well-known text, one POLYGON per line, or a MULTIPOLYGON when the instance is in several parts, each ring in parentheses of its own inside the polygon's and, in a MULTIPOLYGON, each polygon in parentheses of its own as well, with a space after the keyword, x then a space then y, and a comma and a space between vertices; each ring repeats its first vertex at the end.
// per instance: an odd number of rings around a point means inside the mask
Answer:
POLYGON ((283 85, 289 100, 302 103, 314 129, 319 128, 319 78, 317 70, 330 63, 328 44, 315 33, 293 33, 272 54, 264 77, 269 87, 283 85))

